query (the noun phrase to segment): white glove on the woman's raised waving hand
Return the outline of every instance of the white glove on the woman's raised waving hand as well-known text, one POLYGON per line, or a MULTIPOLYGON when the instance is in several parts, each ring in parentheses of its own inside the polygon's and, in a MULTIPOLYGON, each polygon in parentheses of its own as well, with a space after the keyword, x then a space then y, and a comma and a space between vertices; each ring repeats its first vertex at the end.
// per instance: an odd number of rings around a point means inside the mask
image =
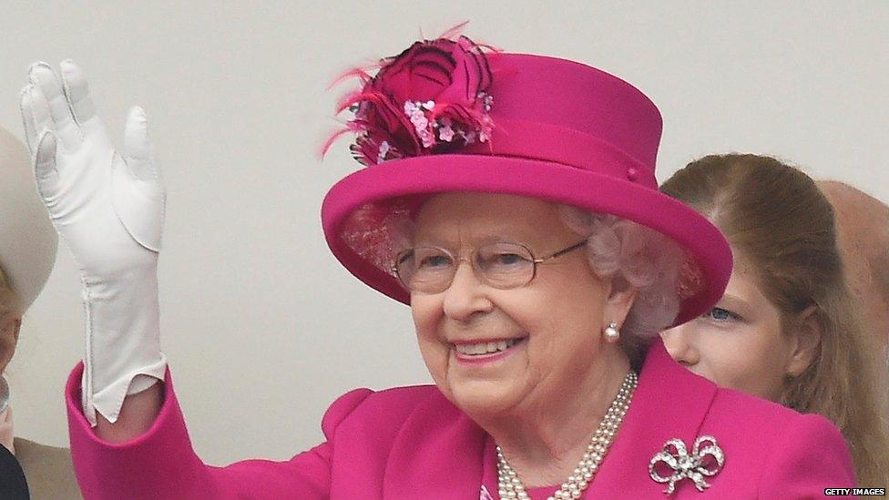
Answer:
POLYGON ((163 380, 158 330, 158 251, 165 190, 145 112, 129 109, 124 156, 111 144, 72 61, 35 63, 22 117, 37 190, 83 282, 86 352, 83 409, 118 420, 128 394, 163 380))

